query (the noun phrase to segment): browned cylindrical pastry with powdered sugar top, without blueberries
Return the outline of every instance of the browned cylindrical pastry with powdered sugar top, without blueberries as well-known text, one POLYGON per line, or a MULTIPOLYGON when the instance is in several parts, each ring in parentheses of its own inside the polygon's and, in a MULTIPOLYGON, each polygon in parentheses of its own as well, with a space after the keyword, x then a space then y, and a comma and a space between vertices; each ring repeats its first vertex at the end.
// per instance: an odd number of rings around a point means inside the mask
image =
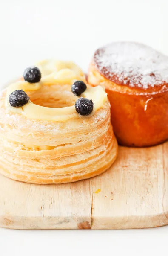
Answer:
POLYGON ((114 42, 94 53, 91 86, 103 85, 121 145, 145 147, 168 140, 168 57, 134 42, 114 42))

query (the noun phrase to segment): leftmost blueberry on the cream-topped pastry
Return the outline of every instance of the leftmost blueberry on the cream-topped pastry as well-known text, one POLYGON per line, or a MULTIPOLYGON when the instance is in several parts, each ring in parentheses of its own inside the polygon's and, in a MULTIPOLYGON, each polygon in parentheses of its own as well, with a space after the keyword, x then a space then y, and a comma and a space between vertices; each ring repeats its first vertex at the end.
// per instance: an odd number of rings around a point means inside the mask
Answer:
POLYGON ((9 103, 12 107, 19 108, 29 101, 28 95, 23 90, 15 90, 9 95, 9 103))

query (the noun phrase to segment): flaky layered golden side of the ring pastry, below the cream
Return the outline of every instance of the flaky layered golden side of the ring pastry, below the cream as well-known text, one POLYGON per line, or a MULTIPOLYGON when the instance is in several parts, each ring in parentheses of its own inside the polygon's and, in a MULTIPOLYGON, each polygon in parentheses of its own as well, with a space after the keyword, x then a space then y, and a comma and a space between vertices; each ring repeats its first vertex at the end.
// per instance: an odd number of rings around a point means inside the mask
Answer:
POLYGON ((100 174, 116 159, 108 99, 90 116, 47 121, 12 112, 6 93, 0 96, 1 174, 28 183, 68 183, 100 174))

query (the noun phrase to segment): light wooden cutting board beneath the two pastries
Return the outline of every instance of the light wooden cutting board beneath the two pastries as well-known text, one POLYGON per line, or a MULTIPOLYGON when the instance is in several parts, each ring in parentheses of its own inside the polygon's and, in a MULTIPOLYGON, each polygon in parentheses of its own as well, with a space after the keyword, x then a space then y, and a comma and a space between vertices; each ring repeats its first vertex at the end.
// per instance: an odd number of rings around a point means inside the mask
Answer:
POLYGON ((168 142, 119 148, 114 165, 90 180, 34 185, 0 176, 0 226, 14 229, 125 229, 168 224, 168 142))

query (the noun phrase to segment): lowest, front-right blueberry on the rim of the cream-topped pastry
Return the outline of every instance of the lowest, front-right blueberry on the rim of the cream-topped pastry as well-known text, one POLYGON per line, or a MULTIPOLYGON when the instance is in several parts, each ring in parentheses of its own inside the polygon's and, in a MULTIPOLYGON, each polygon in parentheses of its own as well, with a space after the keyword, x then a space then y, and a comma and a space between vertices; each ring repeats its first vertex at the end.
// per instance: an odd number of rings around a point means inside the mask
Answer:
POLYGON ((93 111, 94 103, 90 99, 80 98, 75 102, 75 109, 77 113, 82 116, 87 116, 93 111))

